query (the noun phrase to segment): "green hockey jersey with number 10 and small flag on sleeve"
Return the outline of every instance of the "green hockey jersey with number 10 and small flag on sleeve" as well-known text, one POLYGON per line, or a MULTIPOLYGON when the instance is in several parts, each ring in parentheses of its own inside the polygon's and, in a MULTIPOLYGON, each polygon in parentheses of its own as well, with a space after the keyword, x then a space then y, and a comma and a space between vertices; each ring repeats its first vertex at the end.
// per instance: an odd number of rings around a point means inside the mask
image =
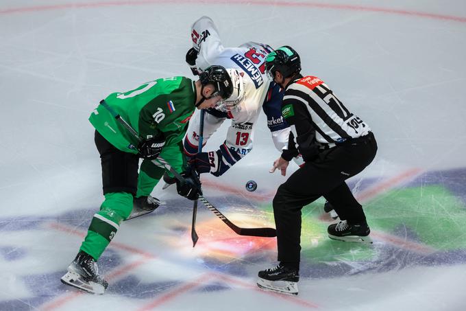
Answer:
MULTIPOLYGON (((105 99, 108 106, 125 119, 141 138, 162 134, 165 146, 182 141, 195 109, 195 100, 195 84, 185 77, 154 80, 125 93, 112 93, 105 99)), ((103 105, 90 114, 89 121, 119 150, 138 153, 134 148, 138 146, 137 139, 103 105)))

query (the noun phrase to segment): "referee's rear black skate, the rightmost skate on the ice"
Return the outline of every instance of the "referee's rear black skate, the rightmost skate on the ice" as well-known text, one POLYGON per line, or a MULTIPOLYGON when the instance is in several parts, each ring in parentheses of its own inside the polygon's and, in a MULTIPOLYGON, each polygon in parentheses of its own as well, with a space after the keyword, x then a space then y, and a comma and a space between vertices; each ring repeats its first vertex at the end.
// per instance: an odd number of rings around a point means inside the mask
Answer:
POLYGON ((336 224, 330 224, 327 232, 328 237, 333 240, 372 243, 372 239, 369 237, 371 229, 366 222, 349 224, 346 220, 340 220, 336 224))

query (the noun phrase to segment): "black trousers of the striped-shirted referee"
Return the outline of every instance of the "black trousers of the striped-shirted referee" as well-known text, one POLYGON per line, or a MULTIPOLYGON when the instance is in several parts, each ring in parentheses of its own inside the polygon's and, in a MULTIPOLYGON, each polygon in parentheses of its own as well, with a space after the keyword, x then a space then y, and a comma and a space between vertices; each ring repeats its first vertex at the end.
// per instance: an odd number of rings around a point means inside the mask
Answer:
POLYGON ((299 269, 301 251, 301 209, 323 196, 341 220, 365 222, 363 207, 354 198, 345 180, 369 165, 376 156, 372 133, 324 150, 280 185, 273 198, 277 228, 278 261, 299 269))

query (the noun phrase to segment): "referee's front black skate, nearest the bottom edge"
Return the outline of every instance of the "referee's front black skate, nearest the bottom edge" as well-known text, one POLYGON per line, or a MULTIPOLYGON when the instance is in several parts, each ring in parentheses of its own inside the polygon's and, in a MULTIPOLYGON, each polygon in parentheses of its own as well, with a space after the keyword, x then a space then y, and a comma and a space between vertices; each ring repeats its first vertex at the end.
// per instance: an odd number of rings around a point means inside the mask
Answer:
POLYGON ((258 276, 257 286, 262 290, 297 295, 299 273, 295 268, 278 265, 275 268, 259 271, 258 276))

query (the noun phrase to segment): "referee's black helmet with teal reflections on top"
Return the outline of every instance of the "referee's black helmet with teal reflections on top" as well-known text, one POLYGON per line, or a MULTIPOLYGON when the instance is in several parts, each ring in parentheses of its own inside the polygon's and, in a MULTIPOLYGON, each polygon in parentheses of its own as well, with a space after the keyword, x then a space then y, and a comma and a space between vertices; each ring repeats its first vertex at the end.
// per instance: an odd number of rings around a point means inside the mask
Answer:
POLYGON ((275 76, 275 71, 280 71, 284 78, 288 78, 301 71, 301 58, 292 47, 285 45, 267 55, 265 70, 272 79, 275 76))

